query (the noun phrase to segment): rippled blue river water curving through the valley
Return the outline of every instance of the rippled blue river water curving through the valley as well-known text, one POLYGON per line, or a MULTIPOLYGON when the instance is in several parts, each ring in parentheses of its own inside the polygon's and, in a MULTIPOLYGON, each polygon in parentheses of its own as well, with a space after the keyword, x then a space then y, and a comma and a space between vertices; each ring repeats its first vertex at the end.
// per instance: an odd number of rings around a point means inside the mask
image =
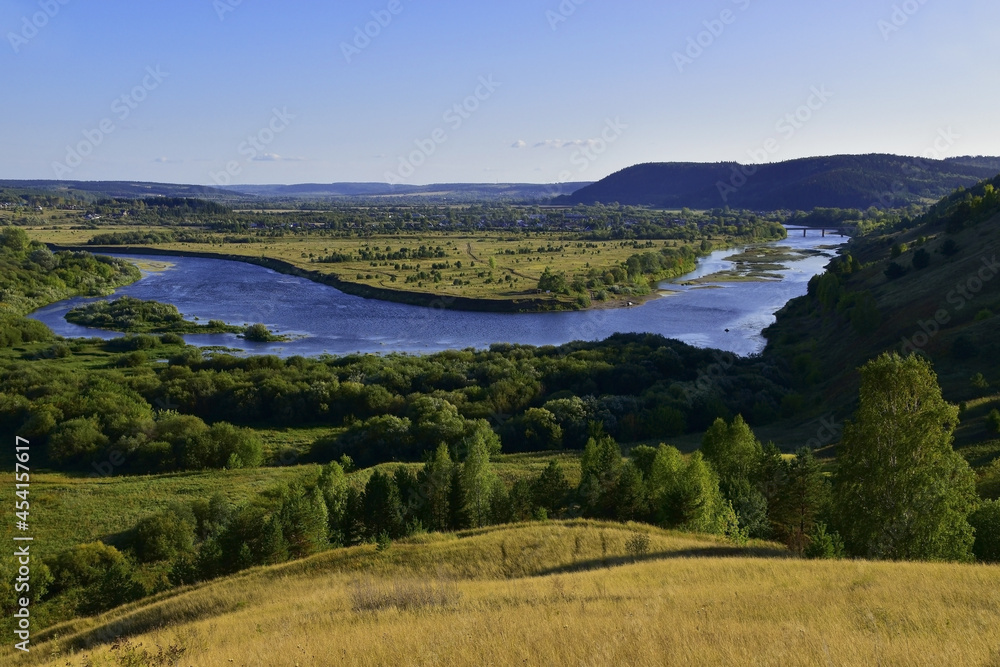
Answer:
MULTIPOLYGON (((831 246, 845 241, 795 232, 772 245, 823 252, 778 271, 780 281, 720 283, 717 288, 684 287, 633 308, 565 313, 475 313, 447 311, 364 299, 304 278, 270 269, 214 259, 156 257, 173 264, 169 270, 144 273, 115 296, 171 303, 191 319, 218 319, 233 324, 263 322, 283 334, 303 336, 283 343, 248 343, 232 334, 185 336, 194 345, 224 345, 252 354, 314 356, 323 353, 433 352, 485 348, 492 343, 559 345, 573 340, 601 340, 616 332, 649 332, 699 347, 746 355, 763 349, 761 331, 790 299, 806 292, 809 279, 835 254, 831 246), (729 329, 726 332, 726 329, 729 329)), ((676 281, 707 276, 732 267, 725 260, 735 250, 712 253, 697 270, 676 281)), ((147 259, 149 259, 147 257, 147 259)), ((64 315, 94 299, 69 299, 42 308, 32 317, 65 337, 112 338, 121 334, 70 324, 64 315)))

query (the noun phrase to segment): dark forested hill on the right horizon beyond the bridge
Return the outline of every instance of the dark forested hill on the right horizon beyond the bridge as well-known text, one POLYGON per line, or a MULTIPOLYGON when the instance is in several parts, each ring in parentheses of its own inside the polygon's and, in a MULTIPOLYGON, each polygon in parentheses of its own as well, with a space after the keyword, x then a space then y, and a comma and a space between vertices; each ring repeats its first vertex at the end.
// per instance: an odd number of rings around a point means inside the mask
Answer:
POLYGON ((1000 172, 1000 158, 924 160, 834 155, 762 165, 648 163, 628 167, 556 203, 655 208, 867 209, 930 203, 1000 172))

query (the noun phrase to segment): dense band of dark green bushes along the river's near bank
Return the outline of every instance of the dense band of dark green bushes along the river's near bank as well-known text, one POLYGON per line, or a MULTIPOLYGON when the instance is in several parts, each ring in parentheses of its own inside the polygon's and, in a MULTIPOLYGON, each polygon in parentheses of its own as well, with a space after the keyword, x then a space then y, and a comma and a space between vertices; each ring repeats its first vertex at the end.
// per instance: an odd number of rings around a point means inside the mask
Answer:
POLYGON ((470 429, 492 428, 506 451, 525 451, 581 449, 590 422, 624 441, 700 430, 738 413, 763 423, 787 391, 781 369, 760 359, 725 357, 726 375, 710 376, 705 369, 719 363, 717 353, 647 335, 426 357, 241 359, 149 335, 105 347, 124 353, 122 369, 80 375, 44 359, 0 362, 0 419, 52 449, 54 465, 89 468, 117 451, 134 472, 147 470, 140 461, 155 464, 148 470, 183 468, 181 439, 149 426, 163 409, 210 424, 328 425, 313 460, 348 454, 370 465, 419 460, 470 429), (63 443, 74 438, 83 439, 67 452, 63 443), (169 456, 165 442, 174 443, 169 456))

